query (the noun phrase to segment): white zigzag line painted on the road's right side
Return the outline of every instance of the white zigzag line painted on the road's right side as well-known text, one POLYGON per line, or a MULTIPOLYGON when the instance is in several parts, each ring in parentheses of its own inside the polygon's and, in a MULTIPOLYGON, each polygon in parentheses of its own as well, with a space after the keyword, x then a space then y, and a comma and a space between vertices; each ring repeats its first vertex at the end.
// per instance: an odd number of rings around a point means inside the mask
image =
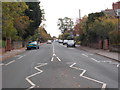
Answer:
POLYGON ((101 82, 101 81, 98 81, 98 80, 95 80, 95 79, 93 79, 93 78, 89 78, 89 77, 84 76, 84 74, 87 72, 87 70, 74 67, 75 64, 76 64, 76 63, 73 63, 72 65, 70 65, 70 67, 71 67, 71 68, 74 68, 74 69, 77 69, 77 70, 82 70, 83 72, 80 74, 80 77, 83 77, 83 78, 85 78, 85 79, 88 79, 88 80, 91 80, 91 81, 94 81, 94 82, 97 82, 97 83, 102 84, 101 90, 105 90, 105 88, 106 88, 106 86, 107 86, 106 83, 101 82))

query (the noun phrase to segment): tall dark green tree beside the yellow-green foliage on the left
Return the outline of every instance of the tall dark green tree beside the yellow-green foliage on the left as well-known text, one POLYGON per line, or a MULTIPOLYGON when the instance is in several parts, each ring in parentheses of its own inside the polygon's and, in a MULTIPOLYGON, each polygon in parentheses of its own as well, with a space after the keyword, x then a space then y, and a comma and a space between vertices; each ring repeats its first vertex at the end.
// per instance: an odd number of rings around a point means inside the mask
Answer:
POLYGON ((30 23, 28 29, 26 30, 26 34, 24 35, 24 39, 29 35, 33 36, 35 30, 39 28, 42 22, 43 11, 40 9, 40 2, 26 2, 28 5, 28 9, 25 11, 26 16, 29 17, 32 22, 30 23))

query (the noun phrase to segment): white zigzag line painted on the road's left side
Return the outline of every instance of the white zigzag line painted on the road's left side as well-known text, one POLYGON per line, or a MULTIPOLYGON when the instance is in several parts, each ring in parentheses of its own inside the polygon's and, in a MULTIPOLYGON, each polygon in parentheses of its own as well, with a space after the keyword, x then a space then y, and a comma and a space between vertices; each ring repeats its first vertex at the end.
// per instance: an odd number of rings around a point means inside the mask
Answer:
POLYGON ((28 88, 27 90, 32 89, 32 88, 34 88, 34 87, 36 86, 36 84, 33 83, 33 82, 30 80, 30 78, 32 78, 32 77, 34 77, 34 76, 36 76, 36 75, 42 73, 43 71, 40 70, 38 67, 42 67, 42 66, 45 66, 45 65, 47 65, 47 63, 40 63, 40 65, 34 67, 34 69, 37 70, 38 72, 37 72, 37 73, 34 73, 34 74, 32 74, 32 75, 30 75, 30 76, 28 76, 28 77, 25 78, 26 81, 28 81, 28 83, 31 84, 31 87, 28 88))

